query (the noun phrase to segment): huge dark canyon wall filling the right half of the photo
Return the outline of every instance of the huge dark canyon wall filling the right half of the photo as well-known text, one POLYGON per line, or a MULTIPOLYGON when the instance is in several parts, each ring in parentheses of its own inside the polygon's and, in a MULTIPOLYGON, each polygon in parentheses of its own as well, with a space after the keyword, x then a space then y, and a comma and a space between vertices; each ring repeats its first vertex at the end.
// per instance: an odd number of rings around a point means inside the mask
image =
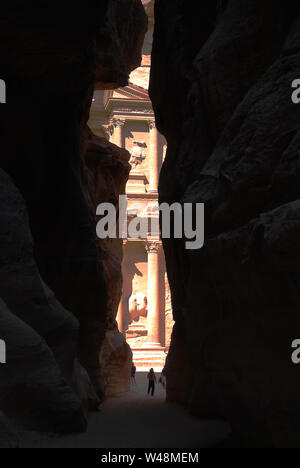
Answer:
POLYGON ((157 0, 155 10, 160 201, 205 203, 203 249, 164 241, 180 330, 168 395, 227 419, 245 444, 299 446, 300 8, 157 0))

